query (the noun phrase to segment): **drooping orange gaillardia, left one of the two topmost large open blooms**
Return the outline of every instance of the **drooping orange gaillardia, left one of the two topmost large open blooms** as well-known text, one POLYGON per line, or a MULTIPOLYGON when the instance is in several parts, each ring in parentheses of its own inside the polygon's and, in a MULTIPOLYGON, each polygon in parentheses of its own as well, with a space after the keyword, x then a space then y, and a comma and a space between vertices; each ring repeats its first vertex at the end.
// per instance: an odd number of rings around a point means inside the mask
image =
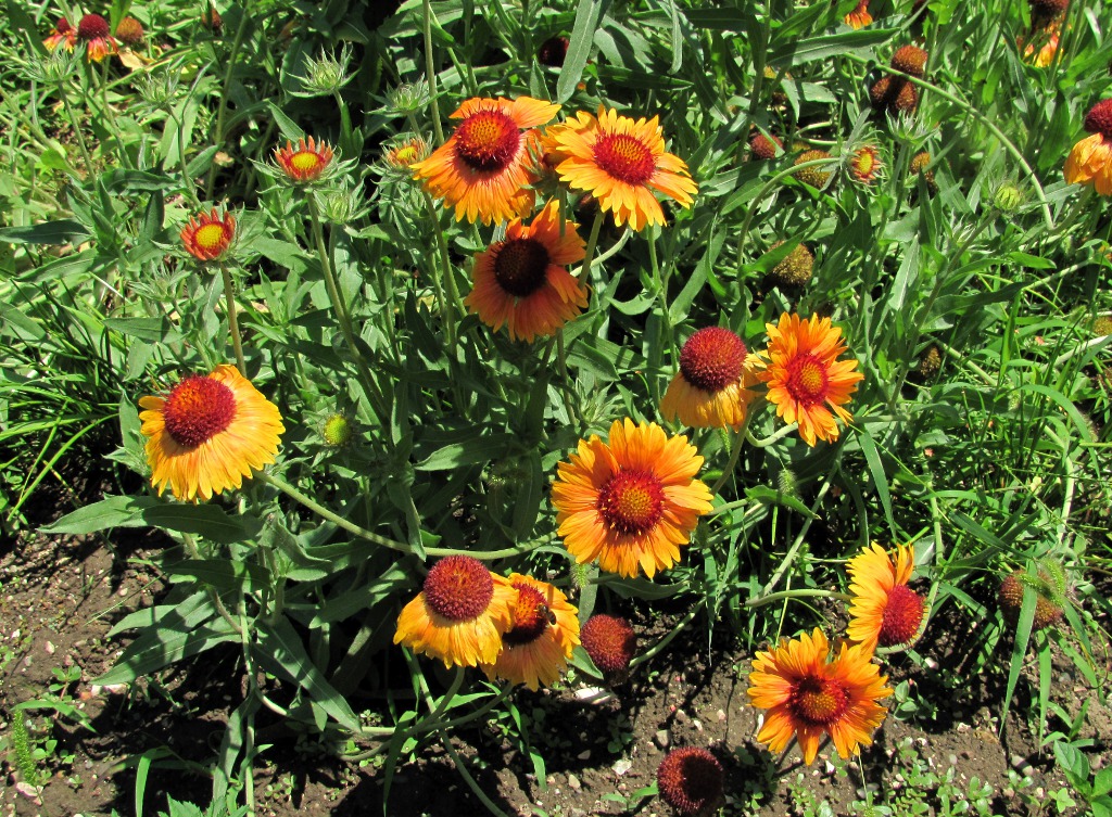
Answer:
POLYGON ((559 106, 530 97, 468 99, 451 114, 461 119, 451 137, 433 156, 413 166, 414 178, 445 207, 456 208, 456 220, 508 221, 533 209, 534 181, 529 137, 523 129, 548 122, 559 106))

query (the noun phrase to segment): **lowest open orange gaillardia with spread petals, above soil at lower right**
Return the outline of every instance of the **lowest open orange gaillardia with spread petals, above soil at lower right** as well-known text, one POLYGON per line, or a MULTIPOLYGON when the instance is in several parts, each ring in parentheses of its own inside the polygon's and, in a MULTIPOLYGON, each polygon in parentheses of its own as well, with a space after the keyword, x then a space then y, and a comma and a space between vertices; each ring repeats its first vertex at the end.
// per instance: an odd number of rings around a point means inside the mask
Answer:
POLYGON ((843 758, 868 746, 887 714, 876 701, 892 695, 884 686, 887 676, 871 658, 862 646, 843 644, 832 660, 826 636, 817 627, 811 636, 784 639, 775 649, 757 652, 746 690, 752 706, 768 710, 757 740, 770 751, 783 751, 794 736, 808 765, 824 734, 843 758))

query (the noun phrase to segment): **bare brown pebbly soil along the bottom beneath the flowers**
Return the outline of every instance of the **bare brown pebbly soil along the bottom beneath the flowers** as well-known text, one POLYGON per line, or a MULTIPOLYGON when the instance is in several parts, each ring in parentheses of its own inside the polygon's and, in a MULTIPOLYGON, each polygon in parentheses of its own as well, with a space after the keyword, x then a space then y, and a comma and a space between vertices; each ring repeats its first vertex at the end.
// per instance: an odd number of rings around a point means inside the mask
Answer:
MULTIPOLYGON (((156 534, 116 531, 106 542, 34 535, 0 548, 0 735, 9 750, 0 795, 3 815, 107 817, 135 810, 136 766, 148 753, 157 763, 148 776, 145 814, 166 808, 166 794, 207 803, 212 761, 228 713, 241 700, 242 678, 236 650, 206 654, 205 660, 160 674, 127 689, 103 689, 92 681, 111 667, 126 639, 107 639, 113 621, 150 606, 162 588, 148 556, 172 547, 156 534), (71 671, 72 683, 59 680, 71 671), (88 719, 44 708, 29 713, 33 747, 48 748, 37 760, 39 789, 18 773, 11 746, 12 707, 52 697, 69 701, 88 719), (130 759, 130 760, 129 760, 130 759), (180 763, 173 763, 178 760, 180 763)), ((636 611, 634 612, 636 615, 636 611)), ((643 620, 643 642, 652 642, 675 617, 643 620)), ((1105 622, 1106 625, 1106 622, 1105 622)), ((804 814, 808 800, 827 800, 835 814, 854 814, 867 786, 896 796, 920 774, 944 776, 953 767, 960 790, 973 777, 992 787, 994 815, 1059 814, 1049 793, 1065 783, 1053 756, 1040 755, 1036 741, 1016 713, 1030 707, 1026 685, 1012 709, 1004 743, 997 736, 1003 678, 975 676, 955 684, 971 666, 961 646, 974 628, 956 614, 937 616, 921 641, 924 666, 893 657, 891 683, 917 686, 933 711, 912 721, 890 717, 858 761, 837 759, 830 746, 805 767, 796 749, 771 757, 754 741, 757 714, 745 705, 751 655, 734 646, 731 634, 709 639, 698 624, 676 638, 628 684, 598 703, 584 703, 575 690, 514 695, 520 716, 532 723, 533 750, 545 763, 538 779, 506 715, 454 738, 469 774, 507 815, 666 815, 659 798, 642 791, 655 779, 666 748, 709 748, 726 771, 726 813, 804 814), (964 641, 945 634, 964 634, 964 641), (922 645, 934 644, 934 655, 922 645), (947 669, 931 669, 931 667, 947 669), (1022 791, 1010 769, 1032 778, 1022 791), (1036 805, 1044 807, 1041 813, 1036 805), (752 809, 752 810, 746 810, 752 809)), ((1001 657, 1001 666, 1006 657, 1001 657)), ((1033 668, 1031 672, 1033 674, 1033 668)), ((1091 760, 1099 766, 1112 740, 1110 710, 1076 683, 1068 661, 1055 666, 1062 681, 1055 691, 1071 714, 1089 700, 1080 737, 1092 738, 1091 760)), ((1032 675, 1032 678, 1034 676, 1032 675)), ((498 711, 498 710, 495 710, 498 711)), ((1054 728, 1062 725, 1054 721, 1054 728)), ((389 808, 384 811, 381 759, 363 765, 331 757, 311 736, 275 731, 275 746, 261 756, 256 776, 262 815, 334 814, 391 817, 484 815, 486 809, 436 743, 399 765, 389 808)), ((264 734, 267 727, 261 727, 264 734)), ((930 803, 930 800, 927 800, 930 803)), ((930 803, 933 808, 939 804, 930 803)), ((1066 809, 1062 814, 1081 814, 1066 809)))

